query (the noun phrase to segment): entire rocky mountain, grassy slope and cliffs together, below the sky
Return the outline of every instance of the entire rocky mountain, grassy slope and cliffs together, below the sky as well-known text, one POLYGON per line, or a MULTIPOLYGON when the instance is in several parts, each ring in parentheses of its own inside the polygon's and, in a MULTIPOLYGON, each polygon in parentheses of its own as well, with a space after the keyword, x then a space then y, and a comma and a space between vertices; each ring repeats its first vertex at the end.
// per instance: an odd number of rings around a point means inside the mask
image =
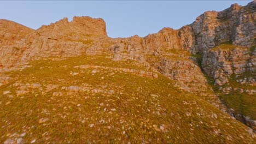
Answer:
POLYGON ((143 38, 0 20, 0 142, 253 143, 255 5, 143 38))

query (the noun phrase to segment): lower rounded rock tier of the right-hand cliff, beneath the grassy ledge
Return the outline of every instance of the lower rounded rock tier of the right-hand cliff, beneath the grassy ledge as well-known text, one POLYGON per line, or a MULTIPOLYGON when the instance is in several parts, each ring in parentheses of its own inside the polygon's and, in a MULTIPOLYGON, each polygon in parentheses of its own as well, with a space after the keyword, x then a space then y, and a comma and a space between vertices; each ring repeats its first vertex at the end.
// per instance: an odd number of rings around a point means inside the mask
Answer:
POLYGON ((222 49, 221 47, 229 47, 223 45, 218 49, 211 49, 204 55, 203 70, 207 75, 212 75, 216 85, 224 85, 228 83, 228 77, 232 74, 242 74, 247 70, 254 73, 255 64, 249 62, 254 59, 254 55, 247 48, 232 46, 231 49, 222 49))

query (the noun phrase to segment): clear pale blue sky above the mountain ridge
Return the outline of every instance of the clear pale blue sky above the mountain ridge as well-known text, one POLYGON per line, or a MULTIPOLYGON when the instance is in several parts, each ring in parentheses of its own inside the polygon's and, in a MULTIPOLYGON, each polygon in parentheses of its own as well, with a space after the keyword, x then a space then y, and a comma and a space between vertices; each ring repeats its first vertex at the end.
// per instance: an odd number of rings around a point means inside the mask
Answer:
POLYGON ((163 27, 178 29, 207 10, 224 10, 252 1, 0 1, 0 19, 37 29, 63 17, 101 17, 109 37, 141 37, 163 27))

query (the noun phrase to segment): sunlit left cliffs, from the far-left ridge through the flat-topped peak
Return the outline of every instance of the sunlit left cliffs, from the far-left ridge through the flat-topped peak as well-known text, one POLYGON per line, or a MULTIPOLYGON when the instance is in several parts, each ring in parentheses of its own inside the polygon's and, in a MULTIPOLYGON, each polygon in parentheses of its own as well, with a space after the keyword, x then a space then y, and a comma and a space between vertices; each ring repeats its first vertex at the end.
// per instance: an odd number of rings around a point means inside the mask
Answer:
POLYGON ((0 26, 2 70, 41 57, 82 55, 94 39, 107 37, 105 22, 88 16, 74 17, 71 22, 64 18, 37 30, 8 20, 0 20, 0 26))

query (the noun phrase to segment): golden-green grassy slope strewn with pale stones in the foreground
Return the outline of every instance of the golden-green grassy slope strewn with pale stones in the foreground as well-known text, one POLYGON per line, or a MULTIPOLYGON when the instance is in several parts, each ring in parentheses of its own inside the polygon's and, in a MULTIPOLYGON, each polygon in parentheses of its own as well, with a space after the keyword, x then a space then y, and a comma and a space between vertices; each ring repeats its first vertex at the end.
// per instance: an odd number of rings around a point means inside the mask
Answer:
POLYGON ((1 96, 0 143, 23 132, 27 142, 36 139, 44 143, 253 142, 245 125, 200 97, 173 87, 165 76, 151 79, 119 71, 98 69, 94 74, 93 69, 73 68, 91 64, 144 70, 131 63, 113 62, 106 56, 80 56, 37 61, 31 68, 9 73, 18 80, 0 87, 0 93, 10 91, 1 96), (79 74, 72 76, 71 72, 79 74), (31 83, 41 86, 31 88, 31 83), (57 87, 47 91, 50 84, 57 87), (16 95, 24 85, 28 93, 16 95), (84 86, 89 91, 71 92, 61 89, 63 86, 84 86), (95 88, 103 92, 93 93, 95 88), (104 93, 110 90, 114 93, 104 93), (53 96, 54 92, 63 95, 53 96), (39 123, 40 118, 49 120, 39 123))

